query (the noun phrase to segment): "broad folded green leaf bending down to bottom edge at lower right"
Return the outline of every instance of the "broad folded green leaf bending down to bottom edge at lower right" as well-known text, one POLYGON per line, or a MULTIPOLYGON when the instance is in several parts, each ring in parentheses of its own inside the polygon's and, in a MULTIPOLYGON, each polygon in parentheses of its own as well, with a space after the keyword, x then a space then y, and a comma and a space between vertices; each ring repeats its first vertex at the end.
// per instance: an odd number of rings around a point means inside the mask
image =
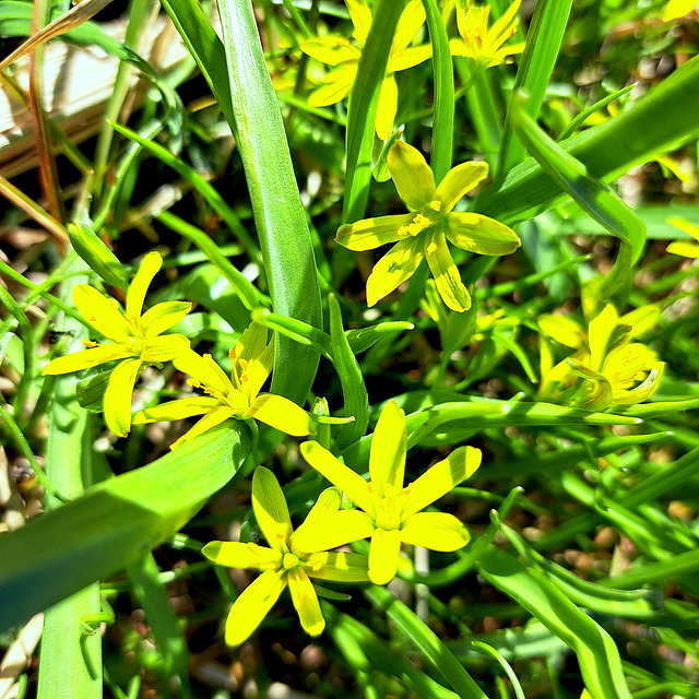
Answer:
POLYGON ((484 552, 476 565, 491 585, 521 604, 574 651, 585 687, 593 699, 631 699, 619 651, 612 637, 544 573, 525 568, 496 548, 484 552))

